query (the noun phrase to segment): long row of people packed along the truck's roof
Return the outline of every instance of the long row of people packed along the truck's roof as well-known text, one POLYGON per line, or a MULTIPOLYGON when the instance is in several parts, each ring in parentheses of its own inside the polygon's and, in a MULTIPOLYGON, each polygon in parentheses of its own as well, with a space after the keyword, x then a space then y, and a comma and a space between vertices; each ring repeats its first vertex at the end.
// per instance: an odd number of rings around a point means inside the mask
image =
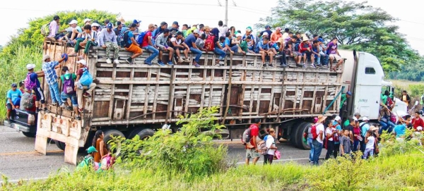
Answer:
POLYGON ((123 47, 133 53, 125 61, 134 64, 135 58, 148 51, 151 56, 146 58, 145 64, 151 66, 153 59, 158 56, 157 64, 165 66, 162 61, 163 52, 169 54, 167 65, 182 62, 191 62, 189 52, 196 57, 192 62, 194 66, 200 67, 199 59, 202 52, 214 52, 219 55, 216 60, 217 66, 223 66, 225 56, 230 54, 259 54, 261 66, 273 67, 273 60, 278 59, 281 67, 287 67, 288 59, 295 60, 296 67, 319 68, 326 67, 336 71, 343 63, 343 58, 338 53, 338 39, 334 37, 325 45, 324 39, 319 35, 312 35, 312 39, 300 32, 291 32, 285 28, 276 27, 274 31, 271 26, 266 25, 265 30, 253 35, 252 27, 246 27, 245 34, 235 27, 223 25, 218 22, 218 27, 209 27, 203 24, 179 26, 177 21, 168 26, 166 22, 160 25, 150 24, 146 30, 140 27, 141 20, 134 20, 126 26, 124 19, 120 18, 116 25, 105 20, 100 25, 97 20, 86 18, 83 26, 78 26, 77 20, 71 20, 66 30, 59 30, 59 16, 54 16, 49 24, 49 35, 47 39, 64 41, 74 47, 74 53, 69 56, 77 56, 80 49, 84 49, 81 58, 85 58, 90 47, 103 47, 106 49, 106 62, 119 64, 119 49, 123 47), (110 51, 114 54, 110 55, 110 51), (181 55, 184 53, 184 58, 181 55), (269 61, 266 63, 266 61, 269 61), (336 61, 336 66, 332 66, 336 61))

